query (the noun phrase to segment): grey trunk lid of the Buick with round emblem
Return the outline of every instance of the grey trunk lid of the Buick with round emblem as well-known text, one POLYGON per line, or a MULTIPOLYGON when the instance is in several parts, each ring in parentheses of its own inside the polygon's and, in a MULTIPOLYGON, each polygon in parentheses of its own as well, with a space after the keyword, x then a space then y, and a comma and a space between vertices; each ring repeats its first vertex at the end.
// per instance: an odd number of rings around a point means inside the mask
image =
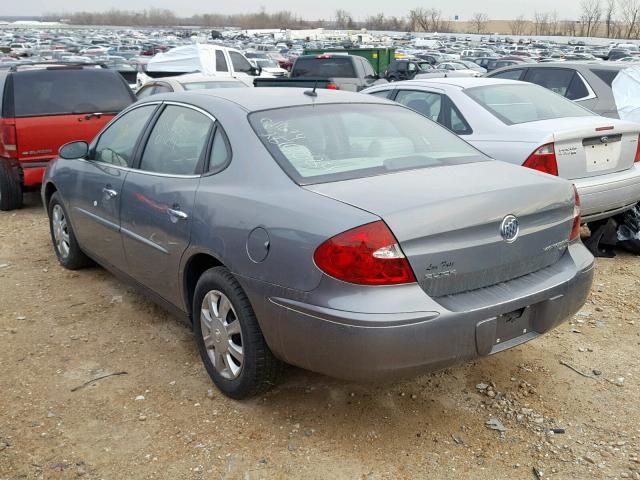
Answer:
POLYGON ((573 220, 570 184, 495 161, 304 188, 382 218, 432 297, 552 265, 566 250, 573 220), (513 242, 501 236, 509 215, 520 227, 513 242))

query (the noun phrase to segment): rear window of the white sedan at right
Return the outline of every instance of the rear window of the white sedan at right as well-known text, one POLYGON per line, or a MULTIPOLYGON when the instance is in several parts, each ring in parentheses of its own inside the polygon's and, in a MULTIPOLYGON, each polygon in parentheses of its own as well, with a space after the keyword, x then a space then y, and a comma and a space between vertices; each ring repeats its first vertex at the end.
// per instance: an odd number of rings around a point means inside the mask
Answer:
POLYGON ((538 85, 487 85, 468 88, 465 93, 507 125, 595 115, 538 85))

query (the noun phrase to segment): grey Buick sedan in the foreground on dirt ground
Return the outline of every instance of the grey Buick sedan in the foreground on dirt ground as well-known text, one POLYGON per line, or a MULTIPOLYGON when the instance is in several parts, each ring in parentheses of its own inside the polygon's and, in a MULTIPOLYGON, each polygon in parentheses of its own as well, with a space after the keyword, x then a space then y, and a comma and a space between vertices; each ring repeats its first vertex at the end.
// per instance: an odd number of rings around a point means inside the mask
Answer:
POLYGON ((188 318, 233 398, 282 362, 363 380, 491 355, 592 282, 570 183, 373 96, 159 95, 60 157, 42 189, 60 263, 188 318))

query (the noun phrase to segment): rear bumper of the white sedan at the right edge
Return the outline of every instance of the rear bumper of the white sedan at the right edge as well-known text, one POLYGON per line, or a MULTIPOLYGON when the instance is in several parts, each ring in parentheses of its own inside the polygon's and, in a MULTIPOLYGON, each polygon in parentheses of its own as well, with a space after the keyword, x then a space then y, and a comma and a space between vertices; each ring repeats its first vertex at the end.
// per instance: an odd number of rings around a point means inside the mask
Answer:
POLYGON ((632 208, 640 201, 640 166, 624 172, 573 180, 585 222, 601 220, 632 208))

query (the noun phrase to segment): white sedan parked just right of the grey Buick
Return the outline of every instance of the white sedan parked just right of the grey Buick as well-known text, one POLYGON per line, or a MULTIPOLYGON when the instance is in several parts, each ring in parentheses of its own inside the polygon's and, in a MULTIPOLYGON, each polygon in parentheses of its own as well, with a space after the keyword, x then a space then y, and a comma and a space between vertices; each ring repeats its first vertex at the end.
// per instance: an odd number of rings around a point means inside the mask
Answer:
POLYGON ((584 221, 608 218, 640 200, 639 124, 601 117, 515 80, 409 80, 363 93, 406 105, 497 160, 571 180, 584 221))

